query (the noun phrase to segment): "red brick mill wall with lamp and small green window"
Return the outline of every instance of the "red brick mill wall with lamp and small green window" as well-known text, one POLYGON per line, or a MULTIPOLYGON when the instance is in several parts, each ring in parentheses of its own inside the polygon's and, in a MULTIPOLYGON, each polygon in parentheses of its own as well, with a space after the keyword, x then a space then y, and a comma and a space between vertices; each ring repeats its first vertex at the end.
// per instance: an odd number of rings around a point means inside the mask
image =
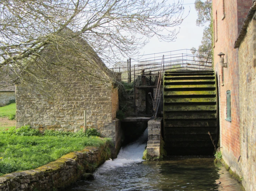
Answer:
POLYGON ((224 157, 226 155, 226 160, 228 160, 226 162, 229 164, 237 161, 240 156, 238 49, 233 47, 251 3, 251 0, 224 0, 225 17, 223 18, 223 0, 213 0, 215 40, 218 29, 218 41, 215 42, 214 47, 214 69, 220 71, 219 81, 222 84, 219 103, 221 146, 222 153, 224 157), (218 18, 215 18, 216 11, 218 18), (226 54, 224 59, 225 62, 228 62, 228 68, 223 70, 221 70, 220 64, 217 64, 219 52, 226 54), (223 75, 224 83, 222 82, 223 75), (225 120, 227 118, 226 92, 228 90, 231 91, 231 122, 225 120))

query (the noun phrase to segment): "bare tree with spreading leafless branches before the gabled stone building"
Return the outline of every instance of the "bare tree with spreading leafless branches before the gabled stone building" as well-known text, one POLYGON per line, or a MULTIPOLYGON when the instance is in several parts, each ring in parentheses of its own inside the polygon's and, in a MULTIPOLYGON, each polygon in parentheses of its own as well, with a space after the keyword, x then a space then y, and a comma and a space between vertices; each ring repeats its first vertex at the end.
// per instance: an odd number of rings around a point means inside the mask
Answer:
POLYGON ((153 36, 173 41, 184 13, 167 0, 2 0, 0 10, 0 80, 63 91, 104 81, 103 62, 134 56, 153 36))

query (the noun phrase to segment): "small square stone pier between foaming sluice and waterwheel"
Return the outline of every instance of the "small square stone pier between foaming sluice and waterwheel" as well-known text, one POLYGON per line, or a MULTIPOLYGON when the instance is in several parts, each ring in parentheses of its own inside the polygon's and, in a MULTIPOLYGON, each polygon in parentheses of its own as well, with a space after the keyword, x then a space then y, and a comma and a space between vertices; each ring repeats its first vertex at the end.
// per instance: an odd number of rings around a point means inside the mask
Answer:
POLYGON ((147 153, 151 158, 159 158, 161 156, 161 125, 162 119, 148 121, 147 153))

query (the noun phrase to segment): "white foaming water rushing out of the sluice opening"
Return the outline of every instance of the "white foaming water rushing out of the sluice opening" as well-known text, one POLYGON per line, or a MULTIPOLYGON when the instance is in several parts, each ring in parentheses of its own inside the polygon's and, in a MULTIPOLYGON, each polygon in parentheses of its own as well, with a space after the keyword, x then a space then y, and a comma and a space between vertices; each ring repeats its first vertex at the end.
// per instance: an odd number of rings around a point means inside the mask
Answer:
POLYGON ((97 169, 97 171, 106 171, 115 167, 122 167, 125 165, 130 165, 131 163, 143 161, 142 156, 145 146, 147 145, 147 138, 148 129, 144 131, 138 140, 125 147, 122 147, 116 159, 107 160, 103 165, 101 165, 101 167, 97 169))

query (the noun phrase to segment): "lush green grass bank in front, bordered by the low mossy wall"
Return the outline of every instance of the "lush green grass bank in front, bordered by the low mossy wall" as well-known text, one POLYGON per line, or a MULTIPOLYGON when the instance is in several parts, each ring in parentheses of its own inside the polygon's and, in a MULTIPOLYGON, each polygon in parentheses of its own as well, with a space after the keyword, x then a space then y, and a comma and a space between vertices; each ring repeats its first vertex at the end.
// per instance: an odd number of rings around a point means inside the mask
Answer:
POLYGON ((0 131, 0 175, 35 169, 69 152, 110 141, 99 137, 21 136, 17 132, 15 127, 0 131))

